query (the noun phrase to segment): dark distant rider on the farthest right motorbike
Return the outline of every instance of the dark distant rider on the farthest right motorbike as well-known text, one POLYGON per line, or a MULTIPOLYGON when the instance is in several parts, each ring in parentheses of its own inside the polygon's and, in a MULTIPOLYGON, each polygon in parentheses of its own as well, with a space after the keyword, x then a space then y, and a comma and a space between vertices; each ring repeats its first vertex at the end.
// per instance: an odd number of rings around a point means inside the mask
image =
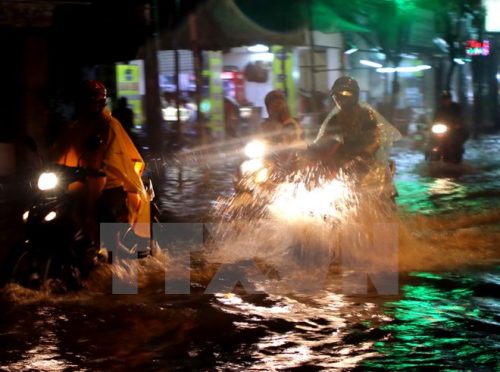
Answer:
POLYGON ((444 160, 459 163, 462 160, 463 145, 469 137, 469 131, 465 126, 460 105, 453 101, 451 93, 447 90, 439 96, 434 123, 442 123, 448 127, 444 143, 446 147, 444 160))

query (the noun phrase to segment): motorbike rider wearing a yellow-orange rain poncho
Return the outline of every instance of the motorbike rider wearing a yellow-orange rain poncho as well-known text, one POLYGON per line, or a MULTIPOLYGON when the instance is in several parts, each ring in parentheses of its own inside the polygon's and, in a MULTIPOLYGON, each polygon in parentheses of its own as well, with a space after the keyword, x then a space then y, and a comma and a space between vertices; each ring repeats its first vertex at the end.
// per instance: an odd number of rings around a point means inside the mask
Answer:
POLYGON ((76 216, 90 236, 99 241, 98 222, 128 222, 139 237, 149 237, 149 196, 141 180, 144 161, 130 137, 107 107, 107 91, 97 80, 79 87, 76 120, 54 147, 55 161, 67 166, 101 170, 105 177, 89 177, 79 192, 76 216))

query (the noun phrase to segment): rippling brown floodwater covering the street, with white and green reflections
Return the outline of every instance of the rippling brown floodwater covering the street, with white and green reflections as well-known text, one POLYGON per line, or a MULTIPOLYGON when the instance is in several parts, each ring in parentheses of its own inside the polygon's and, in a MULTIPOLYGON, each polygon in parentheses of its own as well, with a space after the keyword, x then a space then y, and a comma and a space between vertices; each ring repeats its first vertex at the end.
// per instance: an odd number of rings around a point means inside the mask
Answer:
MULTIPOLYGON (((2 288, 0 369, 498 370, 500 137, 470 140, 460 166, 429 167, 406 139, 392 158, 397 250, 372 261, 395 257, 388 286, 370 266, 371 285, 362 276, 353 290, 352 271, 325 266, 326 224, 244 223, 192 254, 190 294, 165 294, 165 272, 185 275, 168 253, 99 270, 78 293, 2 288), (253 274, 227 290, 224 267, 253 274), (112 273, 137 274, 138 293, 112 294, 112 273)), ((207 221, 231 197, 235 164, 225 151, 156 164, 161 209, 207 221)))

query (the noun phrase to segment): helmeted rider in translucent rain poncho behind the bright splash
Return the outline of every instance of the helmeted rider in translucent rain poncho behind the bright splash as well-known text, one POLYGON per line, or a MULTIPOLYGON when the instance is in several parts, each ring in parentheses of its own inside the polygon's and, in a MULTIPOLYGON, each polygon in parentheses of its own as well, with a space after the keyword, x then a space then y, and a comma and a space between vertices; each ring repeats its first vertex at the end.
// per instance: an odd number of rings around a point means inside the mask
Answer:
POLYGON ((377 110, 359 102, 359 85, 349 76, 338 78, 330 90, 336 107, 323 121, 306 156, 320 161, 327 172, 342 169, 360 186, 377 193, 380 200, 394 201, 394 162, 390 147, 401 138, 399 131, 377 110))

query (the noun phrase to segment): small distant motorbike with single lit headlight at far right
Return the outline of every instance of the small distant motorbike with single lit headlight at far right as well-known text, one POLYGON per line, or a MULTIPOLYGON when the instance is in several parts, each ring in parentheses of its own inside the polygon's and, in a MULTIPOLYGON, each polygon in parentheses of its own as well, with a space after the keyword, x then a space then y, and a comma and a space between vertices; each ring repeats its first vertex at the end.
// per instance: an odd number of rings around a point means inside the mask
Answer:
POLYGON ((449 125, 434 123, 425 149, 425 160, 460 163, 464 153, 463 141, 455 136, 449 125))

